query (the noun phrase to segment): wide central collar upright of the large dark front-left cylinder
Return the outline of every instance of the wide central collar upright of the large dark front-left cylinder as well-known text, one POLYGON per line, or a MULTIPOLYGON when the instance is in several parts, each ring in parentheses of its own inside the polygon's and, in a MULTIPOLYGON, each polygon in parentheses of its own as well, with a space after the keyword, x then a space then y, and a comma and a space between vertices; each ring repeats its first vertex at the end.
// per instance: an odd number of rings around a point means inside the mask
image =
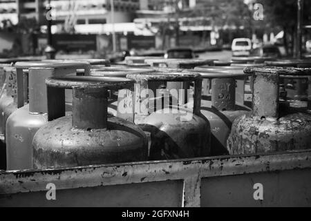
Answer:
POLYGON ((73 87, 73 127, 86 130, 106 128, 107 106, 106 88, 73 87))

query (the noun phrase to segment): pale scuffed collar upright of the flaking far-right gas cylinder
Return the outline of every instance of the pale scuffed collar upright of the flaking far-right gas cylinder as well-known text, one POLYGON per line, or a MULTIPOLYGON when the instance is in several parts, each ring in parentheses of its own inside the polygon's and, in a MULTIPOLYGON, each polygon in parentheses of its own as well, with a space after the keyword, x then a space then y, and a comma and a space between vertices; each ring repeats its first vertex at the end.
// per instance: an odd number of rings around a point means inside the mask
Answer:
POLYGON ((256 71, 254 74, 253 115, 279 117, 279 75, 256 71))

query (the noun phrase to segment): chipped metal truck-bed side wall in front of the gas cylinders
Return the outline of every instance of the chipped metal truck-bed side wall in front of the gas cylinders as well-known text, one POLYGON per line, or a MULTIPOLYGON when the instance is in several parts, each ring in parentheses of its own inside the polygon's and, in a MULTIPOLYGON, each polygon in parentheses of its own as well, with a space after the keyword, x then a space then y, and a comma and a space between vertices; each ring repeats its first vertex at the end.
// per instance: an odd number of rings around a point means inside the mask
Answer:
POLYGON ((306 150, 42 171, 3 171, 0 173, 0 204, 156 206, 160 201, 160 206, 247 206, 250 202, 254 206, 273 203, 274 206, 286 206, 292 202, 310 206, 310 168, 311 151, 306 150), (282 180, 288 173, 291 173, 292 179, 287 180, 284 186, 282 180), (266 176, 264 180, 263 175, 266 176), (182 188, 171 185, 171 182, 178 180, 182 180, 182 188), (256 182, 264 184, 264 199, 252 201, 256 182), (57 200, 46 200, 48 183, 55 184, 57 200), (217 189, 215 185, 220 188, 217 189), (283 191, 276 191, 281 187, 283 191), (166 192, 165 189, 170 191, 166 192), (117 194, 110 195, 109 191, 117 194), (140 191, 144 195, 140 195, 140 191), (169 194, 175 191, 180 191, 182 198, 169 194), (295 194, 288 195, 292 192, 295 194), (131 200, 128 200, 129 196, 133 196, 131 200))

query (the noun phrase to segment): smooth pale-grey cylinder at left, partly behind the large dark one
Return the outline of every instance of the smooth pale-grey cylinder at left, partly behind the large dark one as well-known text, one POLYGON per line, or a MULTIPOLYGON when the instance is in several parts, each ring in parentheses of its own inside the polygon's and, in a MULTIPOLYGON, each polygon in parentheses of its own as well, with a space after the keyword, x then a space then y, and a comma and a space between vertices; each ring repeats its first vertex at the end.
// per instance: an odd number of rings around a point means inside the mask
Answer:
MULTIPOLYGON (((14 111, 6 122, 7 170, 32 168, 32 138, 48 121, 45 81, 62 75, 66 71, 59 71, 57 64, 55 68, 29 68, 29 104, 14 111)), ((17 84, 17 90, 22 85, 17 84)))

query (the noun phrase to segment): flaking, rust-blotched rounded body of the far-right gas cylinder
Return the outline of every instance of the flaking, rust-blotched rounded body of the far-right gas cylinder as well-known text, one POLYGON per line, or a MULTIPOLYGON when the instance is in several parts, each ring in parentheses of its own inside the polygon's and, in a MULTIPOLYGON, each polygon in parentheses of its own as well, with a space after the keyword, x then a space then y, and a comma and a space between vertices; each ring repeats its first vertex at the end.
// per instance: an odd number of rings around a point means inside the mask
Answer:
POLYGON ((243 115, 232 125, 230 154, 269 153, 311 146, 311 115, 296 113, 281 118, 243 115))

